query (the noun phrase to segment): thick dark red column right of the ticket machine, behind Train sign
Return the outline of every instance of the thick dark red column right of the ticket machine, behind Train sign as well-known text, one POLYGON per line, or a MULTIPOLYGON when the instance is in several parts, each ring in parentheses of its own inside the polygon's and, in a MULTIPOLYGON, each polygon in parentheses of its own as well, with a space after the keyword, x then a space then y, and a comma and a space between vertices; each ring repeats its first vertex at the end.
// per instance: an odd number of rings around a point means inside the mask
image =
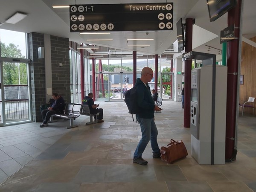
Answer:
POLYGON ((227 114, 226 114, 226 161, 236 160, 235 135, 236 135, 236 100, 238 87, 239 64, 239 38, 241 1, 231 9, 227 15, 228 26, 235 24, 235 37, 227 42, 227 114))

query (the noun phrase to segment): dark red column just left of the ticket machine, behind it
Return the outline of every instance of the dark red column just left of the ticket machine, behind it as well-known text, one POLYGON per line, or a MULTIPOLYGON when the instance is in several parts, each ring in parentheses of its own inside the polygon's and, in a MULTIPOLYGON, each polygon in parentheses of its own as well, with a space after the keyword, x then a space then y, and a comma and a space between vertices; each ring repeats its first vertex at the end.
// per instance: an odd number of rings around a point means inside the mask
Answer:
MULTIPOLYGON (((193 19, 186 18, 186 46, 185 52, 192 51, 192 31, 193 31, 193 19)), ((191 69, 192 60, 187 59, 185 61, 184 70, 184 127, 190 128, 190 90, 191 90, 191 69)))

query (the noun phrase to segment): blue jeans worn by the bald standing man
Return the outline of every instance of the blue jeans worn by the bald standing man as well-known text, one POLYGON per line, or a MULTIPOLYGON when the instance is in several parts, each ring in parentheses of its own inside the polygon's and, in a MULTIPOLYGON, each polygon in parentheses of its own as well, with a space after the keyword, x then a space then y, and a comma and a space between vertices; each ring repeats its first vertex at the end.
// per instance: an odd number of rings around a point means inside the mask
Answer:
POLYGON ((150 140, 151 148, 153 150, 153 153, 160 153, 160 149, 157 144, 157 126, 154 122, 154 118, 151 119, 143 119, 138 118, 140 122, 140 129, 142 133, 142 138, 140 139, 139 144, 137 145, 137 148, 134 152, 134 158, 137 159, 142 156, 146 146, 148 145, 148 142, 150 140))

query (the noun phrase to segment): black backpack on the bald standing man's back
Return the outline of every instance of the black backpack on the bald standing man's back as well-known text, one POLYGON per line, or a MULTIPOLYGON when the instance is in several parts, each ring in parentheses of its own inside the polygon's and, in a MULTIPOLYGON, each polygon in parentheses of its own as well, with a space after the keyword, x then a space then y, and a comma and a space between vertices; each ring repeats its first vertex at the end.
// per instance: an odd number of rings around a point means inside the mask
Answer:
MULTIPOLYGON (((131 113, 132 115, 140 112, 140 108, 137 104, 137 91, 135 86, 126 91, 125 103, 128 107, 129 113, 131 113)), ((132 119, 134 120, 133 116, 132 119)))

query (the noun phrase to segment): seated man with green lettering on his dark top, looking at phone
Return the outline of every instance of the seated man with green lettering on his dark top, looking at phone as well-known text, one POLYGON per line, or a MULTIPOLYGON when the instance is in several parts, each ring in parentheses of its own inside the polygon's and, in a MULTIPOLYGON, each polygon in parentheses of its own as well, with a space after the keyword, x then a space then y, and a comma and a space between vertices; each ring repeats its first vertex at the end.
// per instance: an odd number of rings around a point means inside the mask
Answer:
POLYGON ((92 114, 99 113, 99 121, 98 122, 104 122, 103 120, 103 109, 98 109, 99 105, 94 104, 93 101, 93 93, 89 93, 88 96, 85 96, 83 99, 83 104, 84 105, 89 105, 90 112, 92 114))

